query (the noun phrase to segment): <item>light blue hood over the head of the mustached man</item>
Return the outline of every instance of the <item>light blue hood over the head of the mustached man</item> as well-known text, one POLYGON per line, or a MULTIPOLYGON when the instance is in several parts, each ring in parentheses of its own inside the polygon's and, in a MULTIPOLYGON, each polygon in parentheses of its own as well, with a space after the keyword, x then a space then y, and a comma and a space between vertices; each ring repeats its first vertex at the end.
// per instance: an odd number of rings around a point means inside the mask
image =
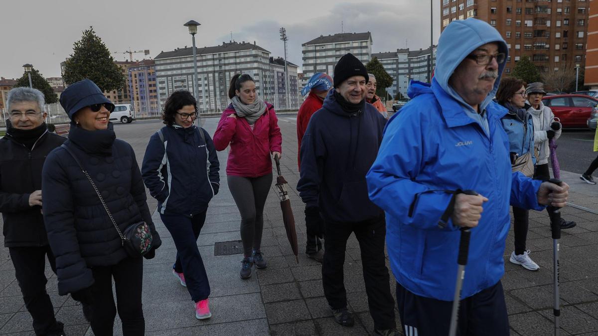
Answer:
MULTIPOLYGON (((440 87, 444 91, 464 106, 469 105, 465 103, 453 88, 449 87, 449 79, 466 56, 481 45, 490 42, 498 44, 498 51, 505 54, 506 61, 506 57, 508 56, 507 42, 505 42, 498 30, 478 19, 469 18, 453 21, 444 29, 440 35, 440 39, 438 39, 434 79, 438 81, 438 84, 440 84, 440 87)), ((506 64, 507 62, 503 62, 498 65, 498 77, 492 91, 490 91, 486 99, 480 104, 480 110, 486 108, 495 96, 496 91, 498 91, 498 85, 501 83, 502 72, 506 64)))

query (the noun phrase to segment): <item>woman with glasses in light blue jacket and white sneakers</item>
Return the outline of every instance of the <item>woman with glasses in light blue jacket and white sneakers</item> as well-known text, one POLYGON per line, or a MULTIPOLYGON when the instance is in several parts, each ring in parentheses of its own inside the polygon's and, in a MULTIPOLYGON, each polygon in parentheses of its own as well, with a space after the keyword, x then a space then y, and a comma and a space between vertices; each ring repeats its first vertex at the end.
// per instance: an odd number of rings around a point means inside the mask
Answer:
MULTIPOLYGON (((526 83, 517 78, 507 77, 501 81, 496 91, 498 103, 508 109, 507 115, 502 118, 502 127, 509 137, 509 152, 511 164, 515 163, 518 157, 528 152, 533 157, 533 120, 532 115, 526 110, 526 83)), ((533 170, 531 172, 533 174, 533 170)), ((527 176, 532 177, 532 176, 527 176)), ((530 271, 537 271, 540 267, 529 257, 529 250, 526 249, 527 227, 529 225, 529 211, 520 207, 513 208, 513 231, 515 235, 515 251, 511 253, 513 264, 521 265, 530 271)))

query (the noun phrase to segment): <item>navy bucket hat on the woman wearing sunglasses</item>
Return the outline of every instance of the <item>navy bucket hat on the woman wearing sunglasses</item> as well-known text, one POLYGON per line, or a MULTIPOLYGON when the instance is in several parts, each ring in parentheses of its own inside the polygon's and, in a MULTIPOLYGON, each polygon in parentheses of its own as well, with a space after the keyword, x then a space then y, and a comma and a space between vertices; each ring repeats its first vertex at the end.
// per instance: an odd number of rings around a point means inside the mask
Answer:
POLYGON ((60 105, 65 109, 71 120, 73 115, 80 109, 101 103, 112 105, 110 111, 114 111, 114 104, 104 96, 96 83, 87 78, 69 85, 60 95, 60 105))

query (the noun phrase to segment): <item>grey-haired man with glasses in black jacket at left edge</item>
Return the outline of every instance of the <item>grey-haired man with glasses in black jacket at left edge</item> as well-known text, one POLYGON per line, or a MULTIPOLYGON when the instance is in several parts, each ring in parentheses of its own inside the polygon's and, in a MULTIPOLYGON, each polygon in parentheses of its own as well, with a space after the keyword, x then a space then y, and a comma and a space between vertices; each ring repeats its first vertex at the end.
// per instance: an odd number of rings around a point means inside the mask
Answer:
POLYGON ((0 212, 8 248, 36 335, 63 335, 63 324, 45 291, 45 259, 56 264, 42 216, 41 170, 45 157, 65 138, 48 132, 44 94, 28 87, 10 90, 7 133, 0 139, 0 212))

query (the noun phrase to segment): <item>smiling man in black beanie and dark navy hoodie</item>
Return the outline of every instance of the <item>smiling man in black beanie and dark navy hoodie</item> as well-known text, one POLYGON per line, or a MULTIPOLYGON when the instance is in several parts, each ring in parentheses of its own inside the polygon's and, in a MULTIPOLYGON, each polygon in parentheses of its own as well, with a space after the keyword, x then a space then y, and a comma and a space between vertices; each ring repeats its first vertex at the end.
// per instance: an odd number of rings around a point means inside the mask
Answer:
POLYGON ((384 245, 384 212, 368 198, 365 174, 376 159, 386 120, 365 103, 368 72, 352 54, 334 67, 334 88, 309 121, 301 141, 301 178, 308 235, 325 236, 322 284, 334 317, 352 326, 343 283, 347 239, 355 233, 361 248, 365 291, 374 334, 395 335, 384 245))

